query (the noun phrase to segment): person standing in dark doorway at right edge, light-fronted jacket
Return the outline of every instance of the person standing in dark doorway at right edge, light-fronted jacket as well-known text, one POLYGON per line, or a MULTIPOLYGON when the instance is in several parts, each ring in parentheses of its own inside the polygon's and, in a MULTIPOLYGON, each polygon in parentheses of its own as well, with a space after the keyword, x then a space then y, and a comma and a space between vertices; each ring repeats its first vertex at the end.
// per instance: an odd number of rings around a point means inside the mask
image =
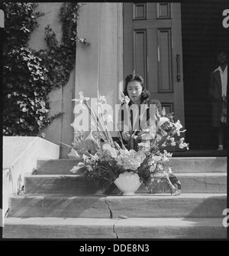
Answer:
POLYGON ((218 150, 224 149, 224 136, 227 127, 227 84, 228 84, 228 53, 218 52, 218 67, 211 73, 208 90, 212 106, 212 126, 218 136, 218 150))

